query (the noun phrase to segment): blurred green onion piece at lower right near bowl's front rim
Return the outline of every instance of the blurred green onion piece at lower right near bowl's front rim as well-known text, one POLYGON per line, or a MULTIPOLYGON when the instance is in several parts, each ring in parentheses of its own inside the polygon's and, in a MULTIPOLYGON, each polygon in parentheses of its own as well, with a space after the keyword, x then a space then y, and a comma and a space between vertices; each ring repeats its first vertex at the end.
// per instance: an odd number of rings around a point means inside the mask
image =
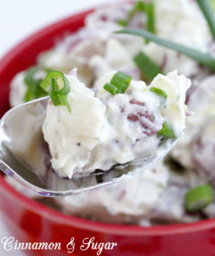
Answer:
POLYGON ((207 207, 213 201, 212 187, 201 185, 190 189, 185 195, 185 208, 189 212, 198 212, 207 207))

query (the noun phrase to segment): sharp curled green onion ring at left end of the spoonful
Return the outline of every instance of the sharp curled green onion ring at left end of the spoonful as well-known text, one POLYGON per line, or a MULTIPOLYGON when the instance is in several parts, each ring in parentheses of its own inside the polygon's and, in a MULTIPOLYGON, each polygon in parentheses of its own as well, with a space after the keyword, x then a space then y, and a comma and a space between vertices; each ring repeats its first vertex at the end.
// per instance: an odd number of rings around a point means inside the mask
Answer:
POLYGON ((51 71, 40 84, 41 88, 48 91, 50 88, 50 98, 54 106, 65 105, 71 113, 71 105, 68 102, 67 94, 71 87, 65 75, 59 71, 51 71))

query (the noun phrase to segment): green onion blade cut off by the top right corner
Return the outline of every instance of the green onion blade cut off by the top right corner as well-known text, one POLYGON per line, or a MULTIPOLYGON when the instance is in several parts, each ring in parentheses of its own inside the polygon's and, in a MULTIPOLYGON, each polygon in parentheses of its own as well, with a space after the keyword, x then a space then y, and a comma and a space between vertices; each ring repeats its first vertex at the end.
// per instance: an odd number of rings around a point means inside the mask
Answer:
POLYGON ((215 39, 215 19, 212 12, 212 5, 209 0, 196 0, 198 3, 203 15, 207 20, 207 24, 212 32, 212 37, 215 39))

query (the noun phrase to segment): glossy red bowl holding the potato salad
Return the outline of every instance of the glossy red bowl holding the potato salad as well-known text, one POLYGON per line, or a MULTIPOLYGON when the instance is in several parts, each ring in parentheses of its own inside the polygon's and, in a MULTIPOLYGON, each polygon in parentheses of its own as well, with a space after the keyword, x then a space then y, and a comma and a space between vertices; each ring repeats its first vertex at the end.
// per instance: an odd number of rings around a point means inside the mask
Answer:
MULTIPOLYGON (((35 64, 37 55, 54 45, 68 32, 83 26, 88 13, 61 20, 20 43, 0 61, 0 115, 8 108, 9 83, 14 75, 35 64)), ((75 238, 72 255, 96 255, 91 247, 81 251, 84 238, 94 242, 117 242, 113 250, 100 255, 215 255, 215 220, 144 228, 132 225, 102 224, 67 216, 20 195, 0 175, 0 214, 11 236, 22 242, 60 242, 60 250, 27 251, 27 255, 68 254, 66 245, 75 238)), ((0 237, 1 238, 1 237, 0 237)), ((0 239, 1 240, 1 239, 0 239)))

